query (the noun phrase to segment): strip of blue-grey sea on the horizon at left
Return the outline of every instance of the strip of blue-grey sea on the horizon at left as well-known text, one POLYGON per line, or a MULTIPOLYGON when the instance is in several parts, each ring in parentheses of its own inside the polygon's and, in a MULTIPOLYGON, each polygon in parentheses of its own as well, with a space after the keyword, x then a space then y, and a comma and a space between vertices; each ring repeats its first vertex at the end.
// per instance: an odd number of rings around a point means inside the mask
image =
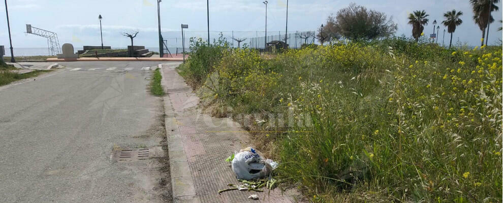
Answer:
MULTIPOLYGON (((83 47, 74 47, 74 51, 77 52, 77 50, 82 50, 83 47)), ((126 47, 120 48, 120 47, 114 47, 114 49, 127 49, 126 47)), ((145 47, 145 49, 148 49, 149 51, 155 51, 159 52, 159 47, 145 47)), ((176 53, 178 50, 178 53, 181 53, 181 48, 176 48, 176 47, 171 47, 169 48, 169 51, 173 54, 176 53)), ((14 56, 49 56, 49 49, 46 48, 13 48, 14 56)), ((9 47, 5 47, 5 56, 11 56, 11 50, 9 47)))

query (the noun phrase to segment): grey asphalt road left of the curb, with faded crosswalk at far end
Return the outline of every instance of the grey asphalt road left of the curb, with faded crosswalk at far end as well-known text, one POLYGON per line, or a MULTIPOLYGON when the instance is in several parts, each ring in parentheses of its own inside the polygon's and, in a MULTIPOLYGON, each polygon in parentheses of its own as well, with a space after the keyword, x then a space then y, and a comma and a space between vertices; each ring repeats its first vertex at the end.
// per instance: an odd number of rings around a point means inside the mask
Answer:
MULTIPOLYGON (((159 62, 63 62, 0 87, 0 202, 156 202, 154 159, 121 162, 114 148, 159 146, 159 62)), ((160 128, 161 129, 161 128, 160 128)))

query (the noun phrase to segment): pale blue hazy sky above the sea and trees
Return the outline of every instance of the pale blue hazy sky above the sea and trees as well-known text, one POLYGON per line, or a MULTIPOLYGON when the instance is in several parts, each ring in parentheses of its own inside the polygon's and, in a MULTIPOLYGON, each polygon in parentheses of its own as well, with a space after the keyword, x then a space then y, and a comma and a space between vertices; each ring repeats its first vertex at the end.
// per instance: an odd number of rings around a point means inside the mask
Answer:
MULTIPOLYGON (((268 33, 285 33, 286 1, 270 0, 267 8, 268 33)), ((0 45, 9 47, 5 5, 0 6, 0 45)), ((209 0, 209 22, 211 38, 216 31, 235 37, 255 37, 265 29, 265 5, 262 0, 209 0), (215 31, 215 32, 213 32, 215 31), (248 32, 240 32, 248 31, 248 32)), ((502 2, 493 12, 495 22, 490 25, 489 44, 498 44, 502 38, 499 20, 502 19, 502 2)), ((482 32, 473 21, 473 12, 468 0, 318 0, 295 1, 288 3, 288 30, 317 30, 327 17, 336 14, 351 3, 363 5, 368 9, 384 12, 398 24, 396 35, 412 36, 412 26, 407 24, 407 15, 414 10, 425 10, 430 22, 424 33, 433 32, 433 20, 441 26, 439 43, 442 43, 444 27, 443 13, 455 9, 462 11, 463 23, 456 28, 453 44, 457 41, 471 46, 480 44, 482 32)), ((74 47, 83 45, 100 46, 100 21, 103 16, 103 41, 112 48, 126 47, 130 39, 121 32, 138 30, 135 45, 158 47, 158 18, 156 0, 8 0, 12 44, 15 48, 47 47, 47 41, 39 36, 26 35, 25 24, 57 33, 59 43, 71 43, 74 47)), ((161 27, 165 38, 181 37, 180 24, 188 24, 188 35, 205 37, 207 30, 206 1, 184 0, 161 2, 161 27)), ((189 36, 189 37, 190 37, 189 36)), ((448 44, 449 33, 445 40, 448 44)), ((206 38, 206 37, 205 37, 206 38)), ((174 39, 171 39, 169 43, 174 39)), ((180 44, 178 42, 178 44, 180 44)))

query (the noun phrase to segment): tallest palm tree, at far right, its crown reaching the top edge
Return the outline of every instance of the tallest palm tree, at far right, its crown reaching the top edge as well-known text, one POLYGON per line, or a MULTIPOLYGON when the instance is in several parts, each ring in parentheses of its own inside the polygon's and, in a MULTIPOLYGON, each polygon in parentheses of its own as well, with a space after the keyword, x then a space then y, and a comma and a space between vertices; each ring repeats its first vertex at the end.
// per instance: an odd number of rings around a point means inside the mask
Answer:
MULTIPOLYGON (((499 0, 469 0, 471 8, 474 12, 474 20, 477 25, 479 25, 480 30, 482 30, 482 39, 484 39, 484 34, 486 32, 486 27, 488 23, 494 21, 491 12, 497 11, 499 8, 494 5, 499 2, 499 0), (490 10, 490 11, 489 11, 490 10)), ((484 41, 482 45, 484 45, 484 41)))

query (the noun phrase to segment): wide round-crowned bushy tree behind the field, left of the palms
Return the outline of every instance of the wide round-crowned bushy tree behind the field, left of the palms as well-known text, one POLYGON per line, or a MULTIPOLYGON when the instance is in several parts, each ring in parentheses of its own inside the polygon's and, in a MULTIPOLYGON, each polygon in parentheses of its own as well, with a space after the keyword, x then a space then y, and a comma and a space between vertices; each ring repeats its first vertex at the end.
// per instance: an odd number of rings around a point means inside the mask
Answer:
POLYGON ((328 18, 327 24, 333 23, 341 36, 352 40, 371 40, 393 35, 397 24, 388 19, 385 13, 370 10, 354 3, 340 9, 337 15, 328 18))

